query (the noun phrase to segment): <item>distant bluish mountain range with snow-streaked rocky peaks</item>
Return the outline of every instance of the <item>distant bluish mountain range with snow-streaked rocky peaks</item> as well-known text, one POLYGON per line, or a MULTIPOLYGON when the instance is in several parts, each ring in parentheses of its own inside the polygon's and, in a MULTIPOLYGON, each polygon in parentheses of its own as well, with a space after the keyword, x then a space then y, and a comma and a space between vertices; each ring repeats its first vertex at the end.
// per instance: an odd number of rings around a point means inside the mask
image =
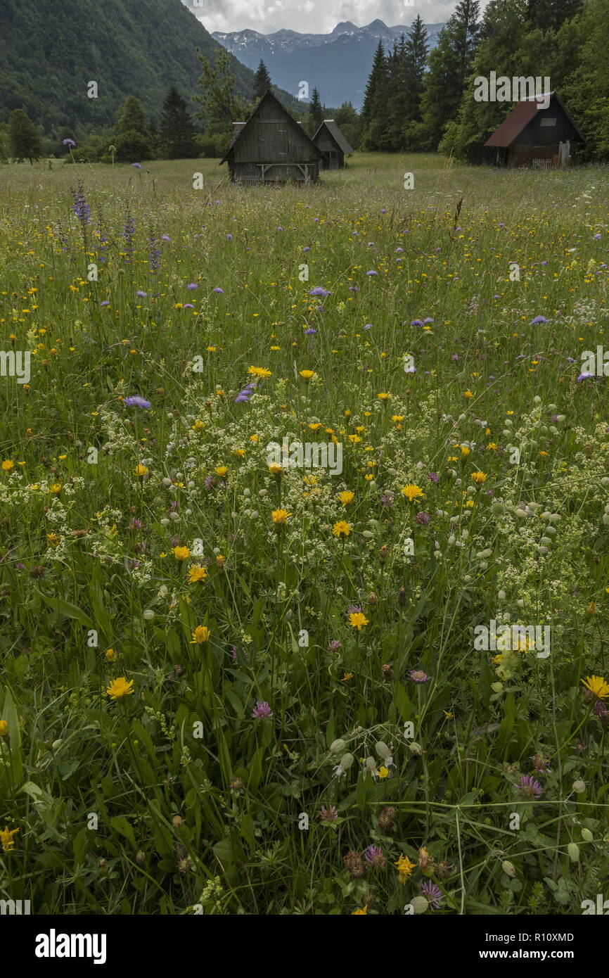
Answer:
MULTIPOLYGON (((430 50, 436 46, 443 26, 443 23, 426 24, 430 50)), ((214 31, 211 36, 247 67, 255 69, 262 59, 274 84, 291 94, 298 96, 300 82, 306 81, 309 95, 317 88, 326 106, 337 109, 343 102, 351 102, 359 111, 379 39, 387 50, 409 30, 406 24, 388 27, 376 20, 365 27, 343 21, 329 34, 301 34, 296 30, 260 34, 256 30, 235 30, 214 31)))

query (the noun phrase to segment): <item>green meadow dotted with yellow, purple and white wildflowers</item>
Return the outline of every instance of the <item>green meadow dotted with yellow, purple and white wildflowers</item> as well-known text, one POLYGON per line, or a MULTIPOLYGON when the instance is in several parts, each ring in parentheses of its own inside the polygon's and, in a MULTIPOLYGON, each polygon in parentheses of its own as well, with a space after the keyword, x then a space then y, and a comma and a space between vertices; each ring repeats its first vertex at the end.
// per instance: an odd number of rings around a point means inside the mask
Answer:
POLYGON ((581 913, 609 171, 0 177, 0 898, 581 913))

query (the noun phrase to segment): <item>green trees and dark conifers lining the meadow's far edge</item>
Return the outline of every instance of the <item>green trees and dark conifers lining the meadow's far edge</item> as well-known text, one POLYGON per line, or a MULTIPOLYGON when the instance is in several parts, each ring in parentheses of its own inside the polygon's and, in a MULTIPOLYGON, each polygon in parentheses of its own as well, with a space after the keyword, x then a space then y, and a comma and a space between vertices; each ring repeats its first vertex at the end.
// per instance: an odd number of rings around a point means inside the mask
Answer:
MULTIPOLYGON (((350 102, 327 109, 317 88, 295 114, 311 136, 330 113, 354 149, 370 152, 435 152, 471 162, 482 158, 489 135, 513 106, 477 102, 475 79, 491 71, 507 77, 549 77, 587 136, 587 155, 609 158, 609 0, 459 0, 438 44, 420 17, 385 51, 374 53, 362 111, 350 102)), ((244 120, 273 82, 264 62, 250 97, 241 94, 230 57, 220 48, 214 61, 199 53, 196 111, 171 86, 156 124, 134 96, 118 111, 113 127, 85 138, 74 149, 71 133, 55 144, 44 140, 23 110, 0 125, 0 160, 70 154, 110 162, 153 158, 222 156, 232 123, 244 120), (67 140, 67 142, 65 142, 67 140)))

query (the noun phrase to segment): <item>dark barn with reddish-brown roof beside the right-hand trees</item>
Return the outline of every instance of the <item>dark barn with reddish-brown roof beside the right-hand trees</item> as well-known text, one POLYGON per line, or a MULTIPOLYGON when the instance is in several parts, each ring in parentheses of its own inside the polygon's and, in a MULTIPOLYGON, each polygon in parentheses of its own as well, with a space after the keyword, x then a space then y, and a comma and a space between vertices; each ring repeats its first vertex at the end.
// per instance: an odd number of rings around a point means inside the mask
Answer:
POLYGON ((547 109, 536 97, 519 102, 487 140, 485 153, 498 166, 549 169, 570 166, 585 142, 560 96, 550 92, 547 109))

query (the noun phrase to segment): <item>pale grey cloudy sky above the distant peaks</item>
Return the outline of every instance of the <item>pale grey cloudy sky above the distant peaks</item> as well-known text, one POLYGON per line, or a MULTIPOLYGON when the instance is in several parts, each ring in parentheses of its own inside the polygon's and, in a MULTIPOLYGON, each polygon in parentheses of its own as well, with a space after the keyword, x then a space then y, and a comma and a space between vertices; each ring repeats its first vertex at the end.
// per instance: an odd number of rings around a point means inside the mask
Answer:
MULTIPOLYGON (((182 0, 203 26, 213 30, 249 27, 271 34, 287 27, 301 33, 327 34, 341 21, 358 27, 378 18, 388 26, 410 24, 417 14, 426 23, 447 21, 457 0, 182 0)), ((482 0, 480 7, 486 7, 482 0)))

